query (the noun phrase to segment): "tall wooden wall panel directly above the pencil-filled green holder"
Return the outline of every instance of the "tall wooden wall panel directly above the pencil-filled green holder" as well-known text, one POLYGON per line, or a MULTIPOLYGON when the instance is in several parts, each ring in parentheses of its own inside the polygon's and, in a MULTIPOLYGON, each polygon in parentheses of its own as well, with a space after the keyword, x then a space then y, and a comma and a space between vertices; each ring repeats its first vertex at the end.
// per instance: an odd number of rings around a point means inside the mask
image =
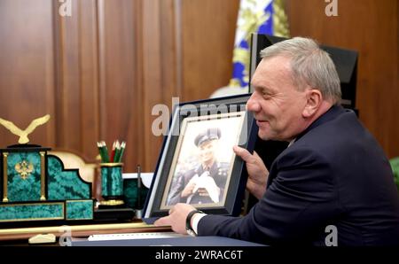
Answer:
MULTIPOLYGON (((137 73, 134 1, 99 1, 100 137, 111 149, 113 141, 127 142, 127 171, 135 167, 133 154, 141 129, 137 124, 137 73), (136 141, 136 142, 135 142, 136 141), (128 162, 129 161, 129 162, 128 162)), ((136 153, 135 153, 136 154, 136 153)))

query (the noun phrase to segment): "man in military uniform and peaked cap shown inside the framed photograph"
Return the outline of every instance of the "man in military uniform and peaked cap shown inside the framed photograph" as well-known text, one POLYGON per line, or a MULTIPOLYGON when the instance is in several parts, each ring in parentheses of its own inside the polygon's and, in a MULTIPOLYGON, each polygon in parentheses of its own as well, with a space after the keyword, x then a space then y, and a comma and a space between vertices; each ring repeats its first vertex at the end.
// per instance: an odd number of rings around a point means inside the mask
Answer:
POLYGON ((229 163, 219 162, 215 158, 220 137, 220 128, 207 128, 195 137, 194 144, 200 150, 201 164, 176 175, 177 181, 169 192, 168 206, 176 203, 199 205, 222 201, 229 163))

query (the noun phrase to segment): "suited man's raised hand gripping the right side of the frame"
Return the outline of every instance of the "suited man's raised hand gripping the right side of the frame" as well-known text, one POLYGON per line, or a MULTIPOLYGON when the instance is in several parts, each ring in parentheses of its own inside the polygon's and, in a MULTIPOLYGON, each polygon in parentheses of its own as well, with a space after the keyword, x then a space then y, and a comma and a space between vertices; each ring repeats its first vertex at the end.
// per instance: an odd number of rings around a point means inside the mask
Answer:
POLYGON ((248 171, 248 181, 246 189, 248 189, 254 197, 262 198, 266 191, 266 182, 268 180, 269 171, 264 165, 261 157, 254 151, 254 155, 239 146, 234 146, 233 151, 246 162, 246 170, 248 171))

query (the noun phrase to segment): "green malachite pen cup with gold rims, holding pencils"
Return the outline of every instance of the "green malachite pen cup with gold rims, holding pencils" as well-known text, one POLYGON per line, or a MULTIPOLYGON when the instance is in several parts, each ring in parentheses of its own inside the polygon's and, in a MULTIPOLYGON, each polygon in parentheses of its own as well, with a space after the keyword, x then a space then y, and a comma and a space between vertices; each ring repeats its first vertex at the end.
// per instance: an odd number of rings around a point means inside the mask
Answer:
POLYGON ((123 163, 101 163, 101 206, 123 205, 123 163))

